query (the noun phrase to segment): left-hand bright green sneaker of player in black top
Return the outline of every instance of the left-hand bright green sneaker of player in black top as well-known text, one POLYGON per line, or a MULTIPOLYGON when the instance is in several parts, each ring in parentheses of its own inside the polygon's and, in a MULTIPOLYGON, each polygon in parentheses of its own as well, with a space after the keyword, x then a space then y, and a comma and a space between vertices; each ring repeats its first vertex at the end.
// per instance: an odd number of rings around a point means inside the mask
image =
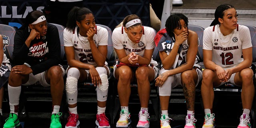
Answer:
POLYGON ((4 128, 15 128, 20 126, 20 120, 14 113, 10 113, 9 117, 5 120, 4 128))

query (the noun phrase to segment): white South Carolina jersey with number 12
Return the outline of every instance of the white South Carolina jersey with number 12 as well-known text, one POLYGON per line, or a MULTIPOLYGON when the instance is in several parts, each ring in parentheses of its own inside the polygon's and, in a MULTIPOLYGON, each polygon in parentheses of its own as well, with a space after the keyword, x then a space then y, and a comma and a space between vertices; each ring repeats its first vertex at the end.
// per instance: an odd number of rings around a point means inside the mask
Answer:
POLYGON ((245 26, 238 26, 237 24, 237 28, 227 36, 223 36, 218 24, 208 27, 209 29, 212 30, 212 42, 211 44, 207 44, 204 40, 203 49, 212 50, 212 61, 222 68, 231 68, 240 64, 244 60, 242 50, 252 47, 251 42, 248 43, 248 41, 242 40, 243 34, 245 34, 242 33, 244 31, 242 29, 245 29, 245 26), (242 32, 239 33, 241 30, 242 32), (212 45, 212 48, 208 49, 207 46, 210 45, 212 45))

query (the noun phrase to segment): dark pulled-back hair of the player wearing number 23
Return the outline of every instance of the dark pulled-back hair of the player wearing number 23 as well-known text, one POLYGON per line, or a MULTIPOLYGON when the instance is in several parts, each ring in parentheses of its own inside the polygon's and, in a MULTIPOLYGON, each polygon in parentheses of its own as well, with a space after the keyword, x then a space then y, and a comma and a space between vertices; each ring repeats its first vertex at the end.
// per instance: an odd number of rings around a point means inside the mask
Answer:
POLYGON ((86 14, 93 14, 92 11, 85 7, 73 7, 70 12, 68 12, 68 22, 66 28, 72 31, 76 28, 76 21, 81 22, 86 17, 86 14))

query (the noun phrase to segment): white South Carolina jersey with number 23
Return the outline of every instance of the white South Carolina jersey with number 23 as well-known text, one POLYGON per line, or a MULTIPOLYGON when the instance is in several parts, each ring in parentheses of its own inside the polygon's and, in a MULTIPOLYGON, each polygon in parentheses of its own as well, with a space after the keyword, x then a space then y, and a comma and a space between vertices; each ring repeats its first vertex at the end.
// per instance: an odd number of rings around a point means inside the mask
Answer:
MULTIPOLYGON (((96 33, 93 36, 94 43, 99 45, 108 45, 108 31, 101 26, 95 26, 96 33)), ((80 62, 96 66, 96 62, 92 56, 90 43, 85 36, 79 34, 78 26, 73 32, 64 30, 64 46, 74 46, 75 59, 80 62)))

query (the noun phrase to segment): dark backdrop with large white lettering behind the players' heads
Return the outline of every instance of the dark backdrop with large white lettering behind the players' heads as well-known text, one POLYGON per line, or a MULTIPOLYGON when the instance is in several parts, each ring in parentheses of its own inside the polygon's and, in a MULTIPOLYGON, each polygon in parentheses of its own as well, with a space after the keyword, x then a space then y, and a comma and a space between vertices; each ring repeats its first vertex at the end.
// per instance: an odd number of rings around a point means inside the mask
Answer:
MULTIPOLYGON (((15 28, 24 23, 24 18, 32 10, 51 12, 46 14, 48 22, 66 26, 66 15, 75 5, 50 0, 0 0, 0 4, 0 24, 15 28)), ((112 30, 130 14, 137 14, 144 26, 150 26, 149 0, 83 0, 76 6, 89 8, 94 13, 96 24, 109 26, 112 30)))

